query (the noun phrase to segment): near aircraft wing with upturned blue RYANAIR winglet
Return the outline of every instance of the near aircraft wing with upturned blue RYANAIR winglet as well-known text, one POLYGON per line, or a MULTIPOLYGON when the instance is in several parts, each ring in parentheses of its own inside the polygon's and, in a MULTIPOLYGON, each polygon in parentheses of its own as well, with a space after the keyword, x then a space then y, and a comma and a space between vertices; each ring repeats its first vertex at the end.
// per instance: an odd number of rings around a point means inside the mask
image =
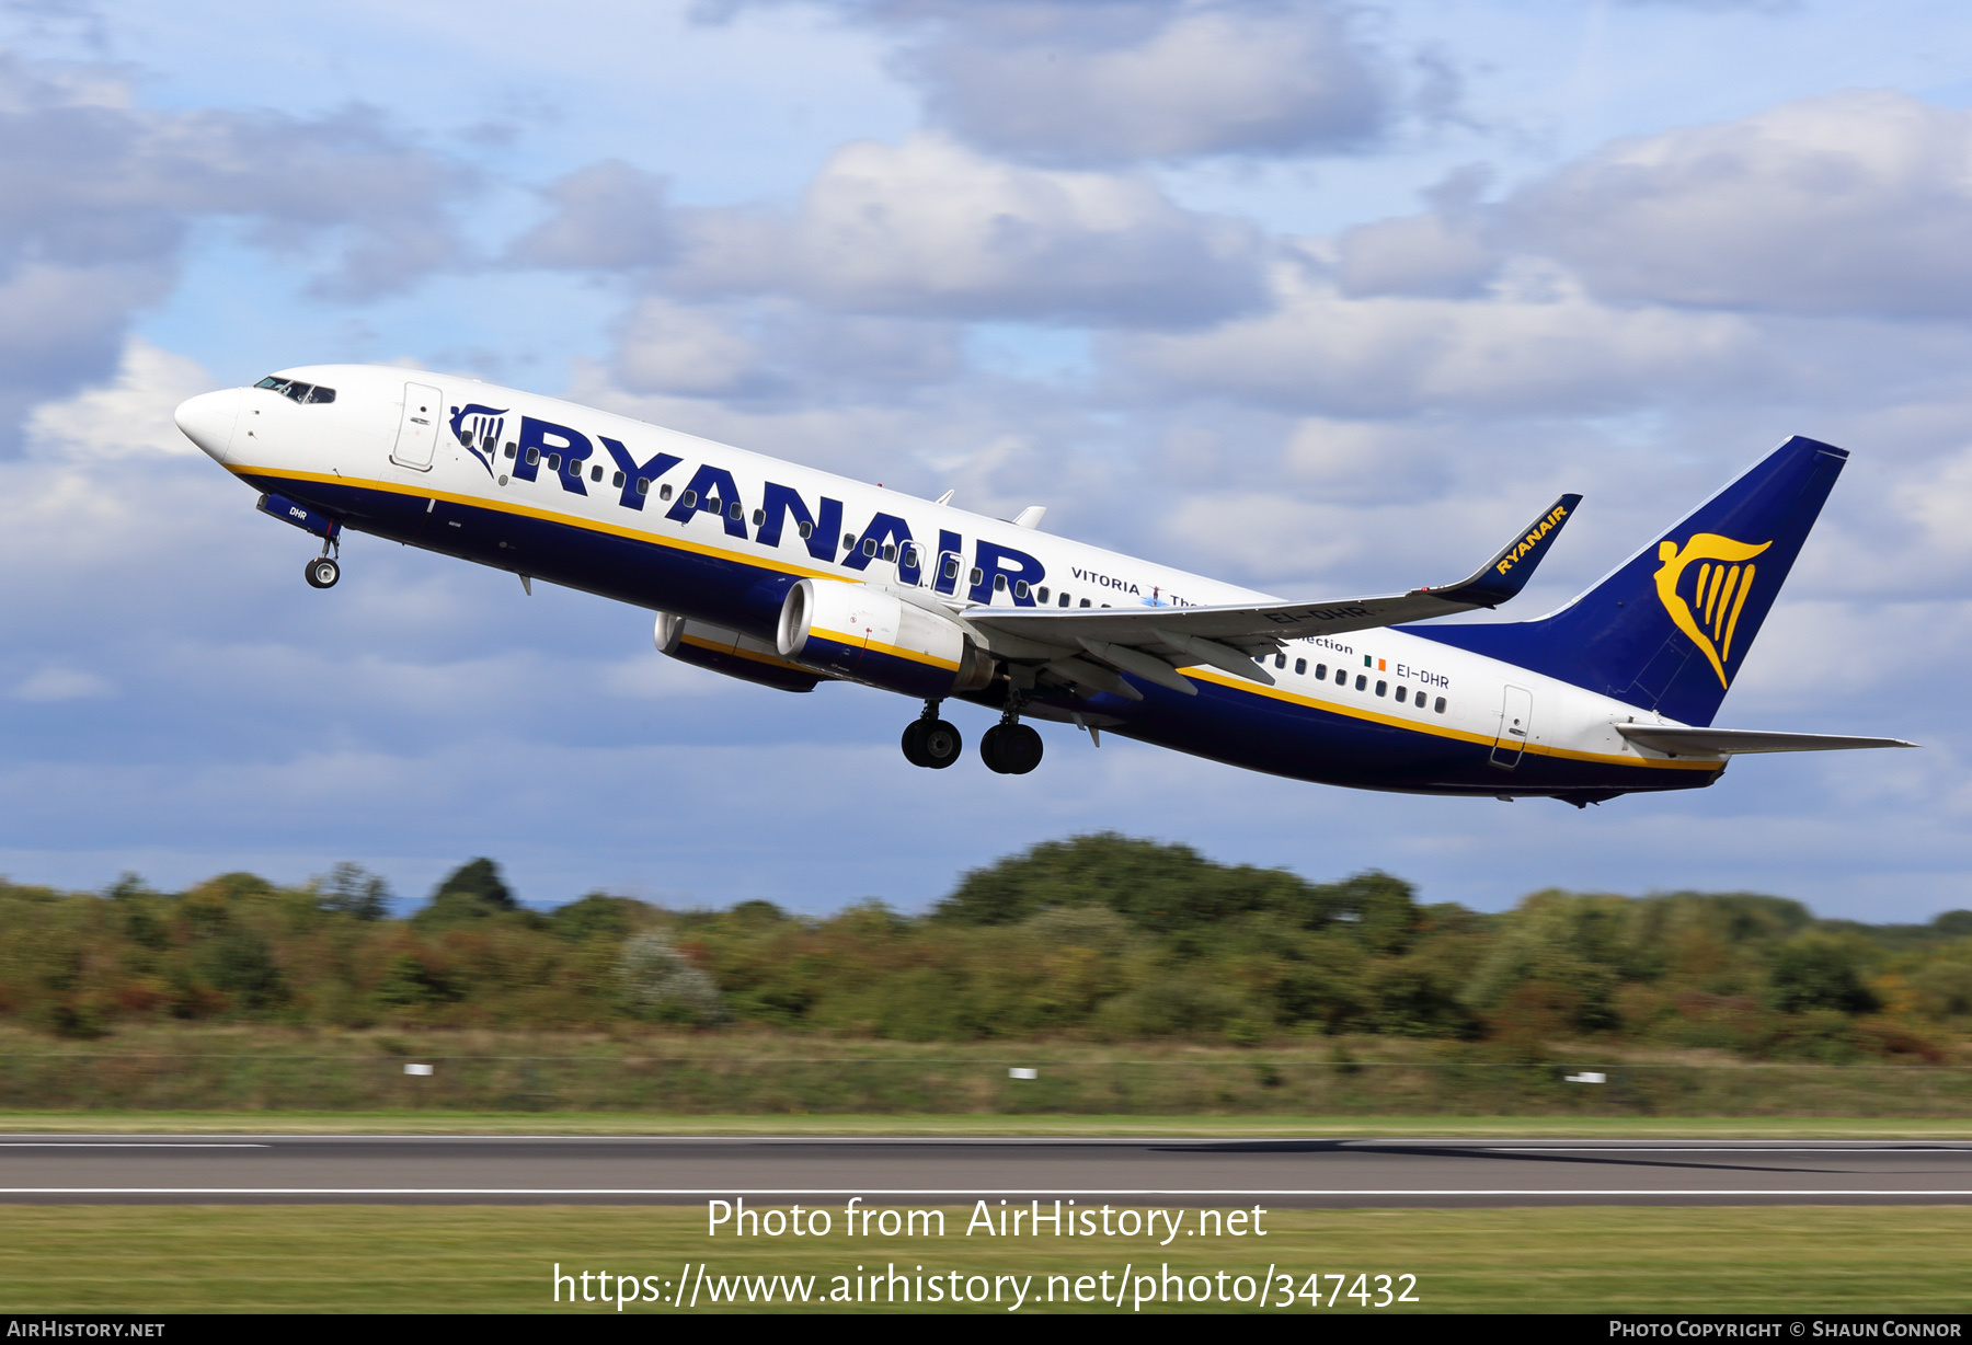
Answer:
MULTIPOLYGON (((1195 688, 1173 667, 1209 663, 1234 676, 1272 684, 1274 678, 1252 659, 1278 651, 1284 641, 1497 607, 1526 588, 1534 566, 1580 503, 1580 495, 1562 495, 1479 570, 1442 588, 1232 607, 972 607, 958 617, 978 629, 994 653, 1010 659, 1049 661, 1049 655, 1071 655, 1087 669, 1085 659, 1094 657, 1112 669, 1185 692, 1195 688)), ((1077 669, 1067 672, 1073 678, 1077 669)), ((1106 682, 1081 684, 1116 690, 1106 682)))

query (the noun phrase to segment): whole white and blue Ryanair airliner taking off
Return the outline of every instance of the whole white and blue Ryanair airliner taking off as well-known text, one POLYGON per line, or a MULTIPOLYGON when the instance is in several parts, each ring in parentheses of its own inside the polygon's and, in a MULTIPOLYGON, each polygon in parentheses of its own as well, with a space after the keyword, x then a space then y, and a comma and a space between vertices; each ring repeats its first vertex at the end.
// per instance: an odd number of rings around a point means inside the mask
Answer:
POLYGON ((1292 779, 1578 807, 1698 789, 1741 751, 1909 745, 1712 728, 1848 454, 1793 438, 1566 607, 1420 625, 1518 594, 1580 497, 1469 578, 1282 602, 1037 531, 471 379, 373 365, 193 396, 179 428, 321 538, 345 529, 613 598, 672 659, 791 692, 923 702, 903 755, 947 767, 947 698, 1000 712, 980 757, 1041 761, 1023 720, 1292 779))

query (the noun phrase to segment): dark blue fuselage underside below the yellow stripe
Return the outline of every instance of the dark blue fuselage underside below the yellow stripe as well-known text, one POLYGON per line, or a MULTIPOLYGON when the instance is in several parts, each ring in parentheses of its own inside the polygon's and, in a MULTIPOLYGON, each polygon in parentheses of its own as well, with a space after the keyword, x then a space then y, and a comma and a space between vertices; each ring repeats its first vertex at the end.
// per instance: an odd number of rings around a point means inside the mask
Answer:
MULTIPOLYGON (((741 560, 501 509, 355 483, 252 473, 241 473, 241 479, 333 515, 357 532, 722 625, 769 643, 783 598, 797 582, 741 560)), ((682 534, 716 546, 724 538, 722 527, 722 519, 700 513, 682 527, 682 534)), ((1720 775, 1716 769, 1621 765, 1538 751, 1524 753, 1509 771, 1493 763, 1493 747, 1483 742, 1406 730, 1209 680, 1197 680, 1197 696, 1138 678, 1130 682, 1144 692, 1142 700, 1043 690, 1035 702, 1045 706, 1045 718, 1067 720, 1079 712, 1102 724, 1102 732, 1252 771, 1355 789, 1546 795, 1591 803, 1619 793, 1702 789, 1720 775)), ((1000 694, 962 698, 998 708, 1000 694)))

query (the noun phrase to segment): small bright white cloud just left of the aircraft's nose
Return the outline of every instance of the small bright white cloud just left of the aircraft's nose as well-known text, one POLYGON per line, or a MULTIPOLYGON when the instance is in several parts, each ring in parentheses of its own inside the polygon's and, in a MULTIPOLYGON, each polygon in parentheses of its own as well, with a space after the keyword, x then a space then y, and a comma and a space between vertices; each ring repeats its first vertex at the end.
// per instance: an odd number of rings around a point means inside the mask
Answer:
POLYGON ((132 335, 124 341, 122 363, 110 383, 59 402, 41 402, 28 412, 28 448, 71 458, 199 458, 199 448, 172 422, 172 410, 211 387, 213 377, 199 361, 132 335))

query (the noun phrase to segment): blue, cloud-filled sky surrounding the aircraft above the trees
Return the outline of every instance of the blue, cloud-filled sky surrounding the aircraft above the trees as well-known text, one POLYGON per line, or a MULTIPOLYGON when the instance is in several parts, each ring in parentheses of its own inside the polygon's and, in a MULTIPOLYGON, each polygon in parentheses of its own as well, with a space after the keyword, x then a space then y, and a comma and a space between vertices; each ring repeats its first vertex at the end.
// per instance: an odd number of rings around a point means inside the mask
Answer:
POLYGON ((1116 830, 1426 901, 1972 907, 1972 10, 1929 0, 0 0, 0 872, 471 856, 554 905, 858 899, 1116 830), (302 363, 469 373, 1284 598, 1507 617, 1791 434, 1852 450, 1720 714, 1576 811, 667 661, 649 613, 314 542, 172 426, 302 363), (976 742, 992 716, 951 718, 976 742))

